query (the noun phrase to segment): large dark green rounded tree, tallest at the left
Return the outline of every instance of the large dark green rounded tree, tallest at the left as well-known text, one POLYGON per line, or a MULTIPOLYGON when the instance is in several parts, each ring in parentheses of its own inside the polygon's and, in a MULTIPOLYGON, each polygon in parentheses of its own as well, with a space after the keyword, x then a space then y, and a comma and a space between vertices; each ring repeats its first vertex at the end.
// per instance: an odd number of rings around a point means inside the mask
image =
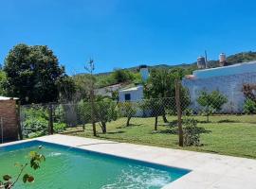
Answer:
POLYGON ((58 89, 64 89, 58 85, 69 81, 64 67, 46 45, 15 45, 5 60, 4 71, 7 93, 19 97, 23 104, 57 101, 58 89))

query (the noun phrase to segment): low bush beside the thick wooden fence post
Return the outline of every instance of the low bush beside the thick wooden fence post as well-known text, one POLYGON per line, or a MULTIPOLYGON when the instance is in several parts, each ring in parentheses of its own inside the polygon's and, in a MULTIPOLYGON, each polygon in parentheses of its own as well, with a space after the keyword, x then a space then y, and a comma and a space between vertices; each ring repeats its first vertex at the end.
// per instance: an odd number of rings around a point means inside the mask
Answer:
POLYGON ((200 130, 195 119, 185 119, 182 122, 184 145, 200 146, 200 130))

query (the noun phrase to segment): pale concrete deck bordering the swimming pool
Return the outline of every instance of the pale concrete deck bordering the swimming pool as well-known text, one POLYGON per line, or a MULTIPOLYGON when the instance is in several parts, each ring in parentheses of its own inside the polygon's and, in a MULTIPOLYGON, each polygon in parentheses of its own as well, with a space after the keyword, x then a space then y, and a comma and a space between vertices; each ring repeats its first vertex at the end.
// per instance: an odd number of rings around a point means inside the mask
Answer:
MULTIPOLYGON (((163 187, 164 189, 256 188, 256 161, 246 158, 155 146, 133 145, 60 134, 44 136, 35 140, 192 170, 189 174, 163 187)), ((9 144, 21 142, 26 141, 9 144)), ((9 144, 0 146, 7 146, 9 144)))

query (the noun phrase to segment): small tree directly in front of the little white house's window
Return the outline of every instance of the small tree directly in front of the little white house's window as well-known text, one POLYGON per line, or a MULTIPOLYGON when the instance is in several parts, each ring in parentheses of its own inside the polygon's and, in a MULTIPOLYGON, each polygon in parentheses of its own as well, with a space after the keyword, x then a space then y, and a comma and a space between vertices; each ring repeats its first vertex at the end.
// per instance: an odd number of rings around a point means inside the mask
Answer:
POLYGON ((137 106, 132 102, 120 102, 119 103, 119 113, 120 116, 127 117, 126 127, 130 125, 130 120, 136 115, 137 106))

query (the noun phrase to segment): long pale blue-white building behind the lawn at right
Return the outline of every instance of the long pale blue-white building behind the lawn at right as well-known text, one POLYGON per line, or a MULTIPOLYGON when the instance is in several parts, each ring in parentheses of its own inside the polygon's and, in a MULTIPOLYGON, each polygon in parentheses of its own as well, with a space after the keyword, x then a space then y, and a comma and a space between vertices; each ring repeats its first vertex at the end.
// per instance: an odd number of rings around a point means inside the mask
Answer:
MULTIPOLYGON (((206 62, 207 63, 207 62, 206 62)), ((202 66, 199 62, 200 67, 202 66)), ((212 92, 218 90, 228 97, 229 102, 223 106, 223 112, 243 112, 245 95, 244 84, 256 83, 256 61, 227 65, 225 54, 220 55, 220 66, 217 68, 196 70, 192 76, 182 80, 188 88, 192 108, 199 110, 197 98, 201 91, 212 92)))

